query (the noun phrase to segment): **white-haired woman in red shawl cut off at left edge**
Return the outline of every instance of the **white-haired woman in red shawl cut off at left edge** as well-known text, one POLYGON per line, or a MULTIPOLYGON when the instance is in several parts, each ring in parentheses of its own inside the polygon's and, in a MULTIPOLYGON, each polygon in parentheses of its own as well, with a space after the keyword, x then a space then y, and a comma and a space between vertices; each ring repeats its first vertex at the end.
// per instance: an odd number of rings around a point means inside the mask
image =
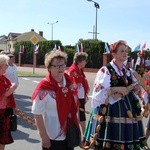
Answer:
POLYGON ((9 116, 13 112, 13 108, 16 107, 13 92, 17 85, 11 83, 4 76, 8 67, 8 61, 8 56, 0 55, 0 150, 4 150, 6 144, 13 143, 9 116))

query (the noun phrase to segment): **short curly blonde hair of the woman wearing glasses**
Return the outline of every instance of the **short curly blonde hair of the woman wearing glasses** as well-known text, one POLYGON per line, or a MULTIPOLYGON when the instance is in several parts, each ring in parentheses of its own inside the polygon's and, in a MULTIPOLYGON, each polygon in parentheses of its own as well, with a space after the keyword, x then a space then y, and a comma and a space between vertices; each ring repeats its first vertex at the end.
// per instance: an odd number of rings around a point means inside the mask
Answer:
POLYGON ((45 55, 45 61, 44 61, 44 64, 45 64, 45 67, 46 68, 50 68, 51 64, 52 64, 52 61, 54 59, 64 59, 65 63, 67 63, 67 54, 65 52, 62 52, 62 51, 50 51, 48 53, 46 53, 45 55))

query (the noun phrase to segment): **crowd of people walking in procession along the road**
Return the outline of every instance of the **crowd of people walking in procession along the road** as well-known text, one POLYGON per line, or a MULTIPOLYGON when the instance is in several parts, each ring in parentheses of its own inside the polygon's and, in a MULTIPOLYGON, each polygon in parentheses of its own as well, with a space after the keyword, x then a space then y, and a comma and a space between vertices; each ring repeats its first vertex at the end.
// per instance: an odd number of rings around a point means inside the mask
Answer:
MULTIPOLYGON (((73 150, 67 138, 73 124, 81 134, 79 146, 83 149, 148 149, 150 121, 144 131, 142 115, 146 109, 149 113, 150 93, 139 84, 134 74, 136 70, 145 77, 143 59, 138 53, 136 68, 131 67, 128 45, 122 40, 110 45, 110 54, 112 60, 99 69, 92 89, 84 73, 88 60, 86 52, 76 52, 68 69, 65 52, 52 50, 45 54, 47 75, 31 96, 31 111, 42 150, 73 150), (90 90, 92 112, 86 124, 90 90)), ((13 54, 0 54, 0 150, 13 142, 9 114, 16 107, 13 93, 19 85, 14 60, 13 54)), ((145 77, 146 86, 150 85, 149 74, 145 77)))

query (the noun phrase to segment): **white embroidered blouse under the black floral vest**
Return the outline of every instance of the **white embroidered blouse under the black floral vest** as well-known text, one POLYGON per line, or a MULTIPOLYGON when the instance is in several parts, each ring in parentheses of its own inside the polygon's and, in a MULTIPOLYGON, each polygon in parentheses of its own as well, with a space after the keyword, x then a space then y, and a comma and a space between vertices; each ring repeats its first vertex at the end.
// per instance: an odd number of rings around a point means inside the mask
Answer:
MULTIPOLYGON (((110 62, 111 66, 114 68, 116 73, 119 76, 123 76, 123 72, 121 70, 118 70, 117 66, 114 64, 113 61, 110 62)), ((126 75, 130 76, 130 71, 127 70, 124 66, 124 69, 126 70, 126 75)), ((132 74, 133 70, 131 70, 131 76, 133 81, 136 81, 135 77, 132 74)), ((105 103, 105 100, 108 98, 110 104, 114 104, 117 101, 113 99, 112 96, 108 97, 108 90, 110 90, 110 82, 111 82, 111 74, 106 66, 103 66, 96 75, 95 81, 94 81, 94 88, 92 93, 92 101, 91 106, 92 108, 96 108, 97 106, 100 106, 101 104, 105 103)), ((120 100, 121 98, 117 99, 120 100)))

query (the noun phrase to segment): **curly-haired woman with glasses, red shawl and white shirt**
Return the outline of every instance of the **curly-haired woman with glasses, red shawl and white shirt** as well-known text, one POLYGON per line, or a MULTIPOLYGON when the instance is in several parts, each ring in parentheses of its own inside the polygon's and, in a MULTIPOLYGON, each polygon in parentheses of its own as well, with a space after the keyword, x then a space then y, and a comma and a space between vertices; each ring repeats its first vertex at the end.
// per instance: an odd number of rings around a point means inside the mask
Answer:
MULTIPOLYGON (((67 145, 66 133, 70 118, 79 129, 77 120, 77 90, 65 73, 67 54, 51 51, 45 56, 47 76, 32 95, 32 113, 42 142, 42 150, 73 150, 67 145)), ((80 133, 80 131, 79 131, 80 133)))

